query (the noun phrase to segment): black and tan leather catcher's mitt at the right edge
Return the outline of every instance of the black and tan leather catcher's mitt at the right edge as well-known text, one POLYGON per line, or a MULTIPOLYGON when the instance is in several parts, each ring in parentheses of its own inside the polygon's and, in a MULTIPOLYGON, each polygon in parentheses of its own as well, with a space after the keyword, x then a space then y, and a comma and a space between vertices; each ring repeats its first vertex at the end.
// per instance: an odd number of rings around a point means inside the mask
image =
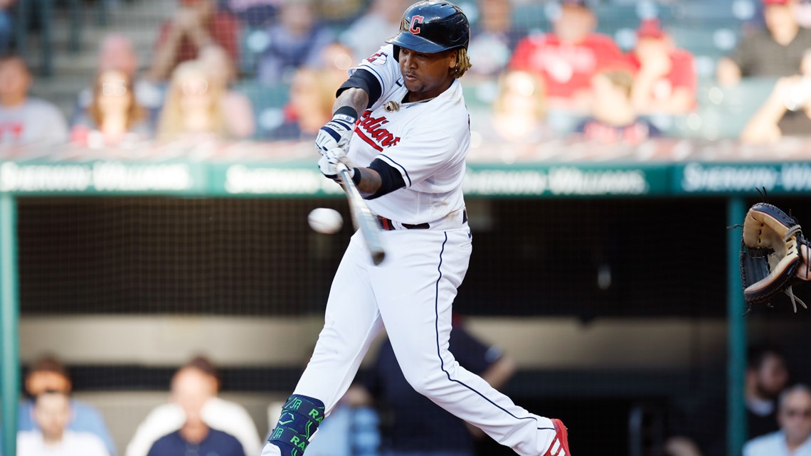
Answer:
POLYGON ((794 312, 796 303, 808 308, 792 290, 792 285, 800 282, 796 277, 797 268, 803 265, 800 245, 811 247, 796 219, 775 205, 758 203, 749 209, 743 228, 740 279, 749 308, 753 304, 771 306, 772 297, 778 293, 792 299, 794 312))

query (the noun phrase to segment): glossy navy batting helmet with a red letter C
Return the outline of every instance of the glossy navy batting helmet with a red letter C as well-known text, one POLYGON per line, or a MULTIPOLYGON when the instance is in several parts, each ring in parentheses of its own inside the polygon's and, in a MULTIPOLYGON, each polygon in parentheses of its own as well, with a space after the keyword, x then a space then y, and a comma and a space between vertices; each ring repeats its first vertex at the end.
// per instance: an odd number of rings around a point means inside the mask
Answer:
POLYGON ((399 57, 401 47, 427 54, 455 48, 467 49, 470 24, 459 6, 450 2, 423 0, 405 10, 400 32, 386 42, 394 45, 394 58, 399 57))

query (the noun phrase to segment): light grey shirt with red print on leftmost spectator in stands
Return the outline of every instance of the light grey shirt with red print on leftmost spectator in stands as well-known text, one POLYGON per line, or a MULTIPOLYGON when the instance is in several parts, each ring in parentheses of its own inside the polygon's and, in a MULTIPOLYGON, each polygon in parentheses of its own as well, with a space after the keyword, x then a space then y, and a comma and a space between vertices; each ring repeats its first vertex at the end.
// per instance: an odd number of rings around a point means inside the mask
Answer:
POLYGON ((28 98, 20 105, 0 106, 0 145, 64 143, 67 123, 55 105, 28 98))

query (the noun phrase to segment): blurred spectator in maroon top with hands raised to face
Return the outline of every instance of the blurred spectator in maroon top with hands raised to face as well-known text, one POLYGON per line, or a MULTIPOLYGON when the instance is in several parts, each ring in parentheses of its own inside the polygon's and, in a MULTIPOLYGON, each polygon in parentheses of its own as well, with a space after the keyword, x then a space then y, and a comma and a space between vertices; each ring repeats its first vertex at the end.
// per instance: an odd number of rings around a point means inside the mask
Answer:
POLYGON ((197 58, 205 45, 221 45, 238 61, 239 23, 227 12, 217 11, 214 0, 180 0, 174 18, 161 28, 153 52, 153 80, 166 80, 181 62, 197 58))

